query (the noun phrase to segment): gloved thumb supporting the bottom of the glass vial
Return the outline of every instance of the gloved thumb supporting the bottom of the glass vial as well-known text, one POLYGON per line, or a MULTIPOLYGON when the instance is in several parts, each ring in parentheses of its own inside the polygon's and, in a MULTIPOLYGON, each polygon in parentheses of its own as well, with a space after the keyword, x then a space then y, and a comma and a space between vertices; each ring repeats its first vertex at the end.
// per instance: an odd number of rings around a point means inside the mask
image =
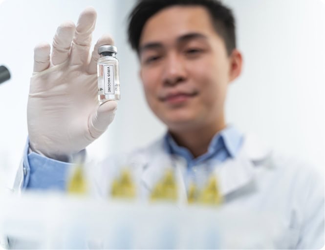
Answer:
POLYGON ((108 101, 99 105, 97 110, 89 117, 88 128, 92 138, 97 139, 105 132, 114 119, 116 108, 116 101, 108 101))

